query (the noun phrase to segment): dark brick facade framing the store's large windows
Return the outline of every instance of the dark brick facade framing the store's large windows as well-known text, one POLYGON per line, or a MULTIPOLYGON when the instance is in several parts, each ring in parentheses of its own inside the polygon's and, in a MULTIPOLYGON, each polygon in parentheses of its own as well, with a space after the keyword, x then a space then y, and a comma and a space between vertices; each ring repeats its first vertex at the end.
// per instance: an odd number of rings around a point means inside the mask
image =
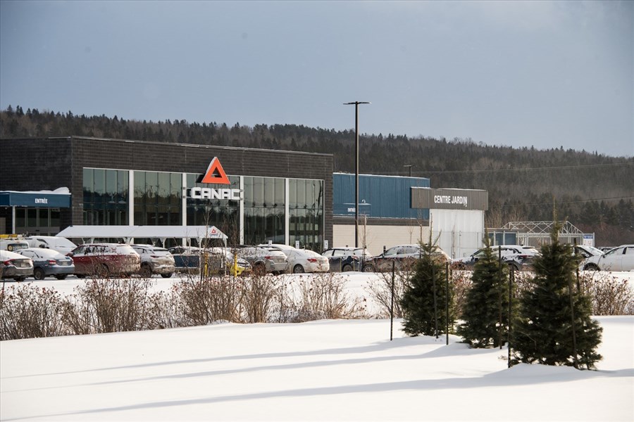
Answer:
POLYGON ((84 167, 202 174, 218 157, 227 174, 324 181, 325 239, 332 241, 331 154, 69 136, 0 140, 0 191, 70 189, 61 229, 82 224, 84 167))

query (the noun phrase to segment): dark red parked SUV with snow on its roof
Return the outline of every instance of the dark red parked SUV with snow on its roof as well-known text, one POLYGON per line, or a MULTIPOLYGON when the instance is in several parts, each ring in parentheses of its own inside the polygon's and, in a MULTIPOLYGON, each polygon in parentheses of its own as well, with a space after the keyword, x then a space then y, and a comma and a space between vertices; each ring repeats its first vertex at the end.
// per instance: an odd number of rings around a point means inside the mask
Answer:
POLYGON ((141 257, 125 243, 87 243, 68 252, 77 276, 130 276, 141 271, 141 257))

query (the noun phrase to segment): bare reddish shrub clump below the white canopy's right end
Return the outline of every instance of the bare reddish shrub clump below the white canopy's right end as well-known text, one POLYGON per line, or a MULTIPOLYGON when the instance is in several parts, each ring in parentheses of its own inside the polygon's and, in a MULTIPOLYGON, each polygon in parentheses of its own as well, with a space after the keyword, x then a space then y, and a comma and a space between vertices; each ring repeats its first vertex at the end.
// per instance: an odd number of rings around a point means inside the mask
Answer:
POLYGON ((175 284, 173 298, 178 301, 187 325, 206 325, 216 321, 241 322, 240 306, 244 295, 239 277, 189 277, 175 284))

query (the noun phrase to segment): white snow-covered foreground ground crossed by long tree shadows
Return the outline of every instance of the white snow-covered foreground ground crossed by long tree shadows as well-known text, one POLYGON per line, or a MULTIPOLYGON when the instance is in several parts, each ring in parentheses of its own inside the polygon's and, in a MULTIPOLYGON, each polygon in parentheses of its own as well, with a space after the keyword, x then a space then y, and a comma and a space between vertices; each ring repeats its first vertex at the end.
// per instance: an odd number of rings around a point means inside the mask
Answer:
MULTIPOLYGON (((358 292, 373 276, 350 275, 358 292)), ((633 421, 634 316, 597 320, 597 371, 507 369, 506 350, 409 338, 399 320, 390 341, 389 319, 3 341, 0 420, 633 421)))

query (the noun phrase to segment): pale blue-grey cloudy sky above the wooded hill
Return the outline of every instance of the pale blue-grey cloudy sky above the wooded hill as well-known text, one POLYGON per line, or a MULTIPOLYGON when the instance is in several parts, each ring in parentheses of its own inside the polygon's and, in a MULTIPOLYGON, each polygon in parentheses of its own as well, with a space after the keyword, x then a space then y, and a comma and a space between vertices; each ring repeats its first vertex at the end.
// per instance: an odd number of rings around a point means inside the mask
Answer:
POLYGON ((632 1, 0 1, 0 108, 634 155, 632 1))

